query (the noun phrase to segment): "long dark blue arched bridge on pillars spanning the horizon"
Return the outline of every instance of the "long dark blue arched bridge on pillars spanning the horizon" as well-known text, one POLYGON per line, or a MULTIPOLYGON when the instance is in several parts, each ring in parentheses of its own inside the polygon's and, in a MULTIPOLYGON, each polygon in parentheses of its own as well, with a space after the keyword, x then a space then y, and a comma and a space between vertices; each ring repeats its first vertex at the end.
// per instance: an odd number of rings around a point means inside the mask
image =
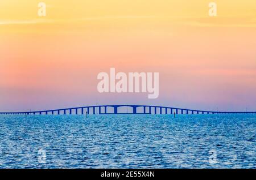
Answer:
POLYGON ((0 112, 0 114, 256 114, 256 112, 218 112, 152 105, 96 105, 76 108, 40 110, 30 112, 0 112), (131 113, 121 113, 121 107, 131 108, 131 113), (141 108, 141 109, 139 109, 141 108), (139 110, 138 110, 139 109, 139 110), (75 111, 75 112, 73 112, 75 111))

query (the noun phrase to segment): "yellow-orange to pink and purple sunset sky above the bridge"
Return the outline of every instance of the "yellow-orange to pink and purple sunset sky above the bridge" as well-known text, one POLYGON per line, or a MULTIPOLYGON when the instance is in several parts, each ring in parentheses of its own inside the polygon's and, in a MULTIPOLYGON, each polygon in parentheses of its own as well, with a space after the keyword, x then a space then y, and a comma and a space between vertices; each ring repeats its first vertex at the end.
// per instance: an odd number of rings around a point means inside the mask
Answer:
POLYGON ((256 1, 0 1, 0 112, 96 104, 256 110, 256 1), (159 72, 159 97, 97 75, 159 72))

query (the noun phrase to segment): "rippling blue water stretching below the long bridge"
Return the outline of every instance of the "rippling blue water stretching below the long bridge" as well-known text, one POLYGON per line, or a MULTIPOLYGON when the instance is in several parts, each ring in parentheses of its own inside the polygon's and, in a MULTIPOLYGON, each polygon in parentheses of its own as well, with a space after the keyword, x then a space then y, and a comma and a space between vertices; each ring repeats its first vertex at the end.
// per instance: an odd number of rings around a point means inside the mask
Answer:
POLYGON ((0 168, 256 168, 255 115, 1 115, 0 122, 0 168))

